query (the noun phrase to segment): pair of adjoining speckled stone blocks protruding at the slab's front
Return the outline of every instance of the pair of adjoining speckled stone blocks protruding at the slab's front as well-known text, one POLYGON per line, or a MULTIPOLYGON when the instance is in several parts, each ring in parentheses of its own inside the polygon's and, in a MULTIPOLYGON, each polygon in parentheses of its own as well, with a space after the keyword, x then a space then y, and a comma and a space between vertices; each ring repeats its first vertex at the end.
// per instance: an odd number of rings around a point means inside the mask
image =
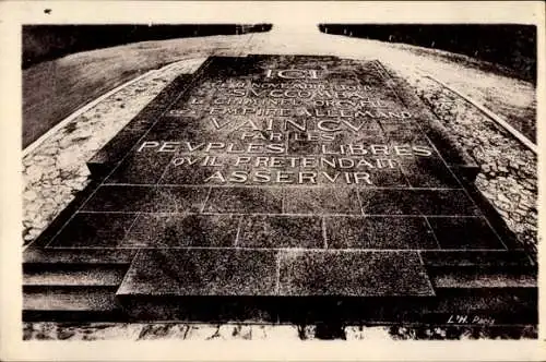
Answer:
POLYGON ((118 297, 429 297, 416 252, 272 249, 149 249, 118 297))

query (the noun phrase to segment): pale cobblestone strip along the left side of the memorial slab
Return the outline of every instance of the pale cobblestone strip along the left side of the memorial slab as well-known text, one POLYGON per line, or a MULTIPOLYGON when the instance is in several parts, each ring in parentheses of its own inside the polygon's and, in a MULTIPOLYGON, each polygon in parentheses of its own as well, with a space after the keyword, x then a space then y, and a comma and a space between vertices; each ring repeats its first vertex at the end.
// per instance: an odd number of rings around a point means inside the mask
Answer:
POLYGON ((153 71, 64 124, 23 158, 23 240, 33 241, 83 190, 85 162, 177 75, 192 73, 205 58, 153 71))

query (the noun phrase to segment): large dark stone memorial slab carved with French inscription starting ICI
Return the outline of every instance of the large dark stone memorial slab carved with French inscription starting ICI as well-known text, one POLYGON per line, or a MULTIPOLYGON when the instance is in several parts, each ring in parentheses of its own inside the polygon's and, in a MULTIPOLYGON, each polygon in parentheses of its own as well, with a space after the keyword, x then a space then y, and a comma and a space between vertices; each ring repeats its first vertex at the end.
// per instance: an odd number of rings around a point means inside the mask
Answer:
MULTIPOLYGON (((25 265, 115 269, 104 307, 128 319, 278 322, 340 305, 441 319, 478 298, 465 286, 530 287, 491 270, 534 267, 467 192, 473 166, 448 138, 378 61, 211 57, 90 160, 96 182, 25 265)), ((44 315, 35 282, 25 293, 25 315, 44 315)), ((84 291, 71 293, 80 311, 84 291)))

